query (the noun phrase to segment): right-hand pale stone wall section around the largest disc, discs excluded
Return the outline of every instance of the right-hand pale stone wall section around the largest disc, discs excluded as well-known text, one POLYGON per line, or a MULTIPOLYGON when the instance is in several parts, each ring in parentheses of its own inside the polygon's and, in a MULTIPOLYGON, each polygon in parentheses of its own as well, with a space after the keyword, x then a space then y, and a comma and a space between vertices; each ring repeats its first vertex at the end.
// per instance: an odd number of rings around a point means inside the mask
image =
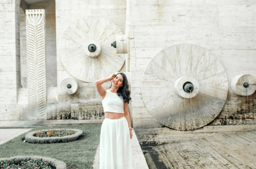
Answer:
MULTIPOLYGON (((256 1, 130 1, 134 127, 163 126, 152 118, 143 103, 141 79, 151 58, 167 46, 192 43, 206 48, 221 60, 229 83, 237 74, 256 77, 256 1)), ((256 93, 247 98, 230 90, 224 109, 209 125, 255 124, 255 103, 256 93)))

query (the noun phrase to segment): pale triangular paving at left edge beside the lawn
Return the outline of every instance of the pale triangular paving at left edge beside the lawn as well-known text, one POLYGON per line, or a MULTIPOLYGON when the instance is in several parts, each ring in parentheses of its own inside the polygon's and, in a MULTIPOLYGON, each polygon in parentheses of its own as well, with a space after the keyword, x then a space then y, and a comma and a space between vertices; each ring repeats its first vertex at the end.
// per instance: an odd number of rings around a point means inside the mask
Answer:
POLYGON ((0 145, 30 130, 31 129, 0 129, 0 145))

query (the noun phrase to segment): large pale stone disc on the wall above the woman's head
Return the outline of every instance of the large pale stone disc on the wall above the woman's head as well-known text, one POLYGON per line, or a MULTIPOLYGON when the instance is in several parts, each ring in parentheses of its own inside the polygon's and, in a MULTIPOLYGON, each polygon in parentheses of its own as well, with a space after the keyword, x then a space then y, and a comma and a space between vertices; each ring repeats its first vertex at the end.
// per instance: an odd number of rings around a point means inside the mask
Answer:
POLYGON ((65 44, 60 51, 62 64, 71 75, 85 82, 95 82, 118 72, 125 57, 116 54, 116 49, 111 46, 117 34, 122 34, 122 31, 105 18, 90 16, 76 20, 66 29, 60 41, 65 44), (101 48, 98 57, 88 55, 90 43, 100 44, 96 45, 97 49, 101 48))

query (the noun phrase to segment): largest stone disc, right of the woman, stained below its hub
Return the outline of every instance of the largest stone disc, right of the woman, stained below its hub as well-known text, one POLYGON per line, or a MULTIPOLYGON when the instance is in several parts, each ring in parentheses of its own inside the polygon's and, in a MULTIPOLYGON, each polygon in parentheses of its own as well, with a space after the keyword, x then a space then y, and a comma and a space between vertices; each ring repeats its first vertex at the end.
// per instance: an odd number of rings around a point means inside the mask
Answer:
POLYGON ((192 45, 169 46, 148 63, 142 77, 142 96, 148 112, 163 125, 193 130, 207 125, 221 112, 228 93, 227 74, 206 49, 192 45), (175 81, 182 76, 198 80, 193 98, 178 96, 175 81))

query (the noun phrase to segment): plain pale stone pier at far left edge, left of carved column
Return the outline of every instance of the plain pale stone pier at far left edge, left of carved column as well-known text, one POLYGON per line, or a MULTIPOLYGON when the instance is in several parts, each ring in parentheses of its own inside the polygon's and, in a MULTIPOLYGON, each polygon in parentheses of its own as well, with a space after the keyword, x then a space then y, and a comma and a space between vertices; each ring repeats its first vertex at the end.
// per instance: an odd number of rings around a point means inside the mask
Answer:
POLYGON ((11 109, 17 103, 20 87, 20 0, 0 1, 0 117, 16 116, 11 109))

